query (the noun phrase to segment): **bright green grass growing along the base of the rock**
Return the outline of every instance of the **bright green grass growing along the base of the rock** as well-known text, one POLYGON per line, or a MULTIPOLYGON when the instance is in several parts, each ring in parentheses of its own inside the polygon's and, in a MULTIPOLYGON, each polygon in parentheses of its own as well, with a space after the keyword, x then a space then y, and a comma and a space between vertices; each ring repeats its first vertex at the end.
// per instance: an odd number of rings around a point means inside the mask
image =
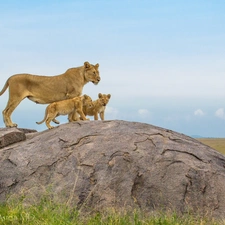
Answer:
POLYGON ((46 199, 39 204, 23 206, 22 203, 0 205, 1 225, 220 225, 215 220, 176 213, 149 213, 117 211, 84 214, 79 210, 56 204, 46 199))

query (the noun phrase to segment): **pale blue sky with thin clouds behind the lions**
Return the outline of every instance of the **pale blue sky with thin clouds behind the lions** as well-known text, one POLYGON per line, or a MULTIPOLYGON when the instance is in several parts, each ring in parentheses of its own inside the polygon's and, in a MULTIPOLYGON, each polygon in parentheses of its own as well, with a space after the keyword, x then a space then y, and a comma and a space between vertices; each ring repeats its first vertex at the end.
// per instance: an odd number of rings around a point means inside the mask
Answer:
MULTIPOLYGON (((99 63, 101 82, 83 93, 112 95, 106 119, 225 137, 224 10, 223 0, 1 2, 0 86, 17 73, 51 76, 99 63)), ((1 111, 7 100, 8 91, 1 111)), ((13 122, 44 130, 35 122, 45 108, 26 99, 13 122)))

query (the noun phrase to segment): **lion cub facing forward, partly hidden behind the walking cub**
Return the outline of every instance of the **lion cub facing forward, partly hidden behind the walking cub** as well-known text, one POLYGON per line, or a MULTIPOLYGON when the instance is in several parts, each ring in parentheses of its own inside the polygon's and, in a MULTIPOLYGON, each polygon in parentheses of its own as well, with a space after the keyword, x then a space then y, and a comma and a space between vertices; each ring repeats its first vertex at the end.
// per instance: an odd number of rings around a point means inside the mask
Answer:
MULTIPOLYGON (((84 115, 88 115, 88 116, 94 116, 95 120, 98 120, 98 114, 100 115, 101 120, 105 119, 105 108, 106 105, 109 102, 109 99, 111 98, 111 95, 108 94, 98 94, 98 99, 93 101, 93 106, 92 107, 87 107, 87 106, 83 106, 83 112, 84 115)), ((72 118, 73 121, 77 121, 79 119, 79 116, 75 113, 71 113, 73 115, 70 115, 70 119, 72 118)))

